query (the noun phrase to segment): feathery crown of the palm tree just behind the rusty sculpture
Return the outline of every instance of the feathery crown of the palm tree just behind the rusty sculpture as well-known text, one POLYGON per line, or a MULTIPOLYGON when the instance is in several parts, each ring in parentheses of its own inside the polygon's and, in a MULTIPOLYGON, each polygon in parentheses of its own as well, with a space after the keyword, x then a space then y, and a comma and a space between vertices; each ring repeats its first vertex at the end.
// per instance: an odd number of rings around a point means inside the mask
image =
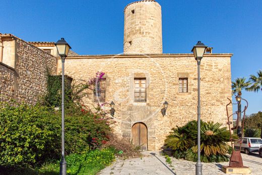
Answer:
POLYGON ((248 90, 249 86, 250 86, 250 82, 246 81, 246 78, 236 78, 235 81, 232 81, 232 91, 233 94, 238 94, 238 95, 242 95, 241 90, 245 89, 248 90))

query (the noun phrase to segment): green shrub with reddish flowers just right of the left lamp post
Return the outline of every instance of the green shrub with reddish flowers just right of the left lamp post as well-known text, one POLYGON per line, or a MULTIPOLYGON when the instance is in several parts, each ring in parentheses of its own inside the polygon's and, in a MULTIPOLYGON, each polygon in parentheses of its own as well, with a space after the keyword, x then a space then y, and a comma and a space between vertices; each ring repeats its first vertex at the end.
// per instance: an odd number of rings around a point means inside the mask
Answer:
POLYGON ((111 121, 103 113, 79 108, 65 117, 65 153, 81 153, 105 144, 112 130, 111 121))

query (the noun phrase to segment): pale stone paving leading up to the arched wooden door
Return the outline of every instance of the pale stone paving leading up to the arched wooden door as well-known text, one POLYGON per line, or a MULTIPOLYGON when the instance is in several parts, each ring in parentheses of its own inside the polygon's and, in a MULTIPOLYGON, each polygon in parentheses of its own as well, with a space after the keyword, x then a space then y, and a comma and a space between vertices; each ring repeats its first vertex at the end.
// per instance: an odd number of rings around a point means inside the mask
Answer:
MULTIPOLYGON (((262 174, 262 158, 258 154, 241 154, 245 166, 250 167, 251 174, 262 174)), ((172 163, 166 163, 159 151, 146 151, 140 158, 117 160, 111 166, 103 169, 99 174, 195 174, 195 162, 171 158, 172 163)), ((222 163, 203 163, 203 174, 225 174, 221 171, 222 163)))

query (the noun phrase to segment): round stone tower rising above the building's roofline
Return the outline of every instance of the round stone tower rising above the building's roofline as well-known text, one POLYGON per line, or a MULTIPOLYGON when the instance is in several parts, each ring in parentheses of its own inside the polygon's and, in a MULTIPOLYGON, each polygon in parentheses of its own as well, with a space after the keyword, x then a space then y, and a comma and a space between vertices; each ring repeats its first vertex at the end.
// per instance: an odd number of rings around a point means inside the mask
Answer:
POLYGON ((162 53, 161 6, 155 0, 124 8, 124 54, 162 53))

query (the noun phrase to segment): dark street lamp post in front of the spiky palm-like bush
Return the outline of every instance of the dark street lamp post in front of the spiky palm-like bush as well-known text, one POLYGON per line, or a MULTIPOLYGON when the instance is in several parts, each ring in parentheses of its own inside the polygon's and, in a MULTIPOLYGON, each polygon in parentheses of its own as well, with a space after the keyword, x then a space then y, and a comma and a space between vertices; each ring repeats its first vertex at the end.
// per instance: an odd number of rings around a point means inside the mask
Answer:
POLYGON ((200 64, 201 60, 203 58, 203 55, 205 53, 207 46, 202 43, 201 41, 198 41, 196 45, 192 48, 192 52, 194 53, 194 58, 198 62, 198 161, 195 164, 195 174, 196 175, 202 175, 202 163, 201 163, 201 144, 200 144, 200 128, 201 128, 201 122, 200 122, 200 64))

